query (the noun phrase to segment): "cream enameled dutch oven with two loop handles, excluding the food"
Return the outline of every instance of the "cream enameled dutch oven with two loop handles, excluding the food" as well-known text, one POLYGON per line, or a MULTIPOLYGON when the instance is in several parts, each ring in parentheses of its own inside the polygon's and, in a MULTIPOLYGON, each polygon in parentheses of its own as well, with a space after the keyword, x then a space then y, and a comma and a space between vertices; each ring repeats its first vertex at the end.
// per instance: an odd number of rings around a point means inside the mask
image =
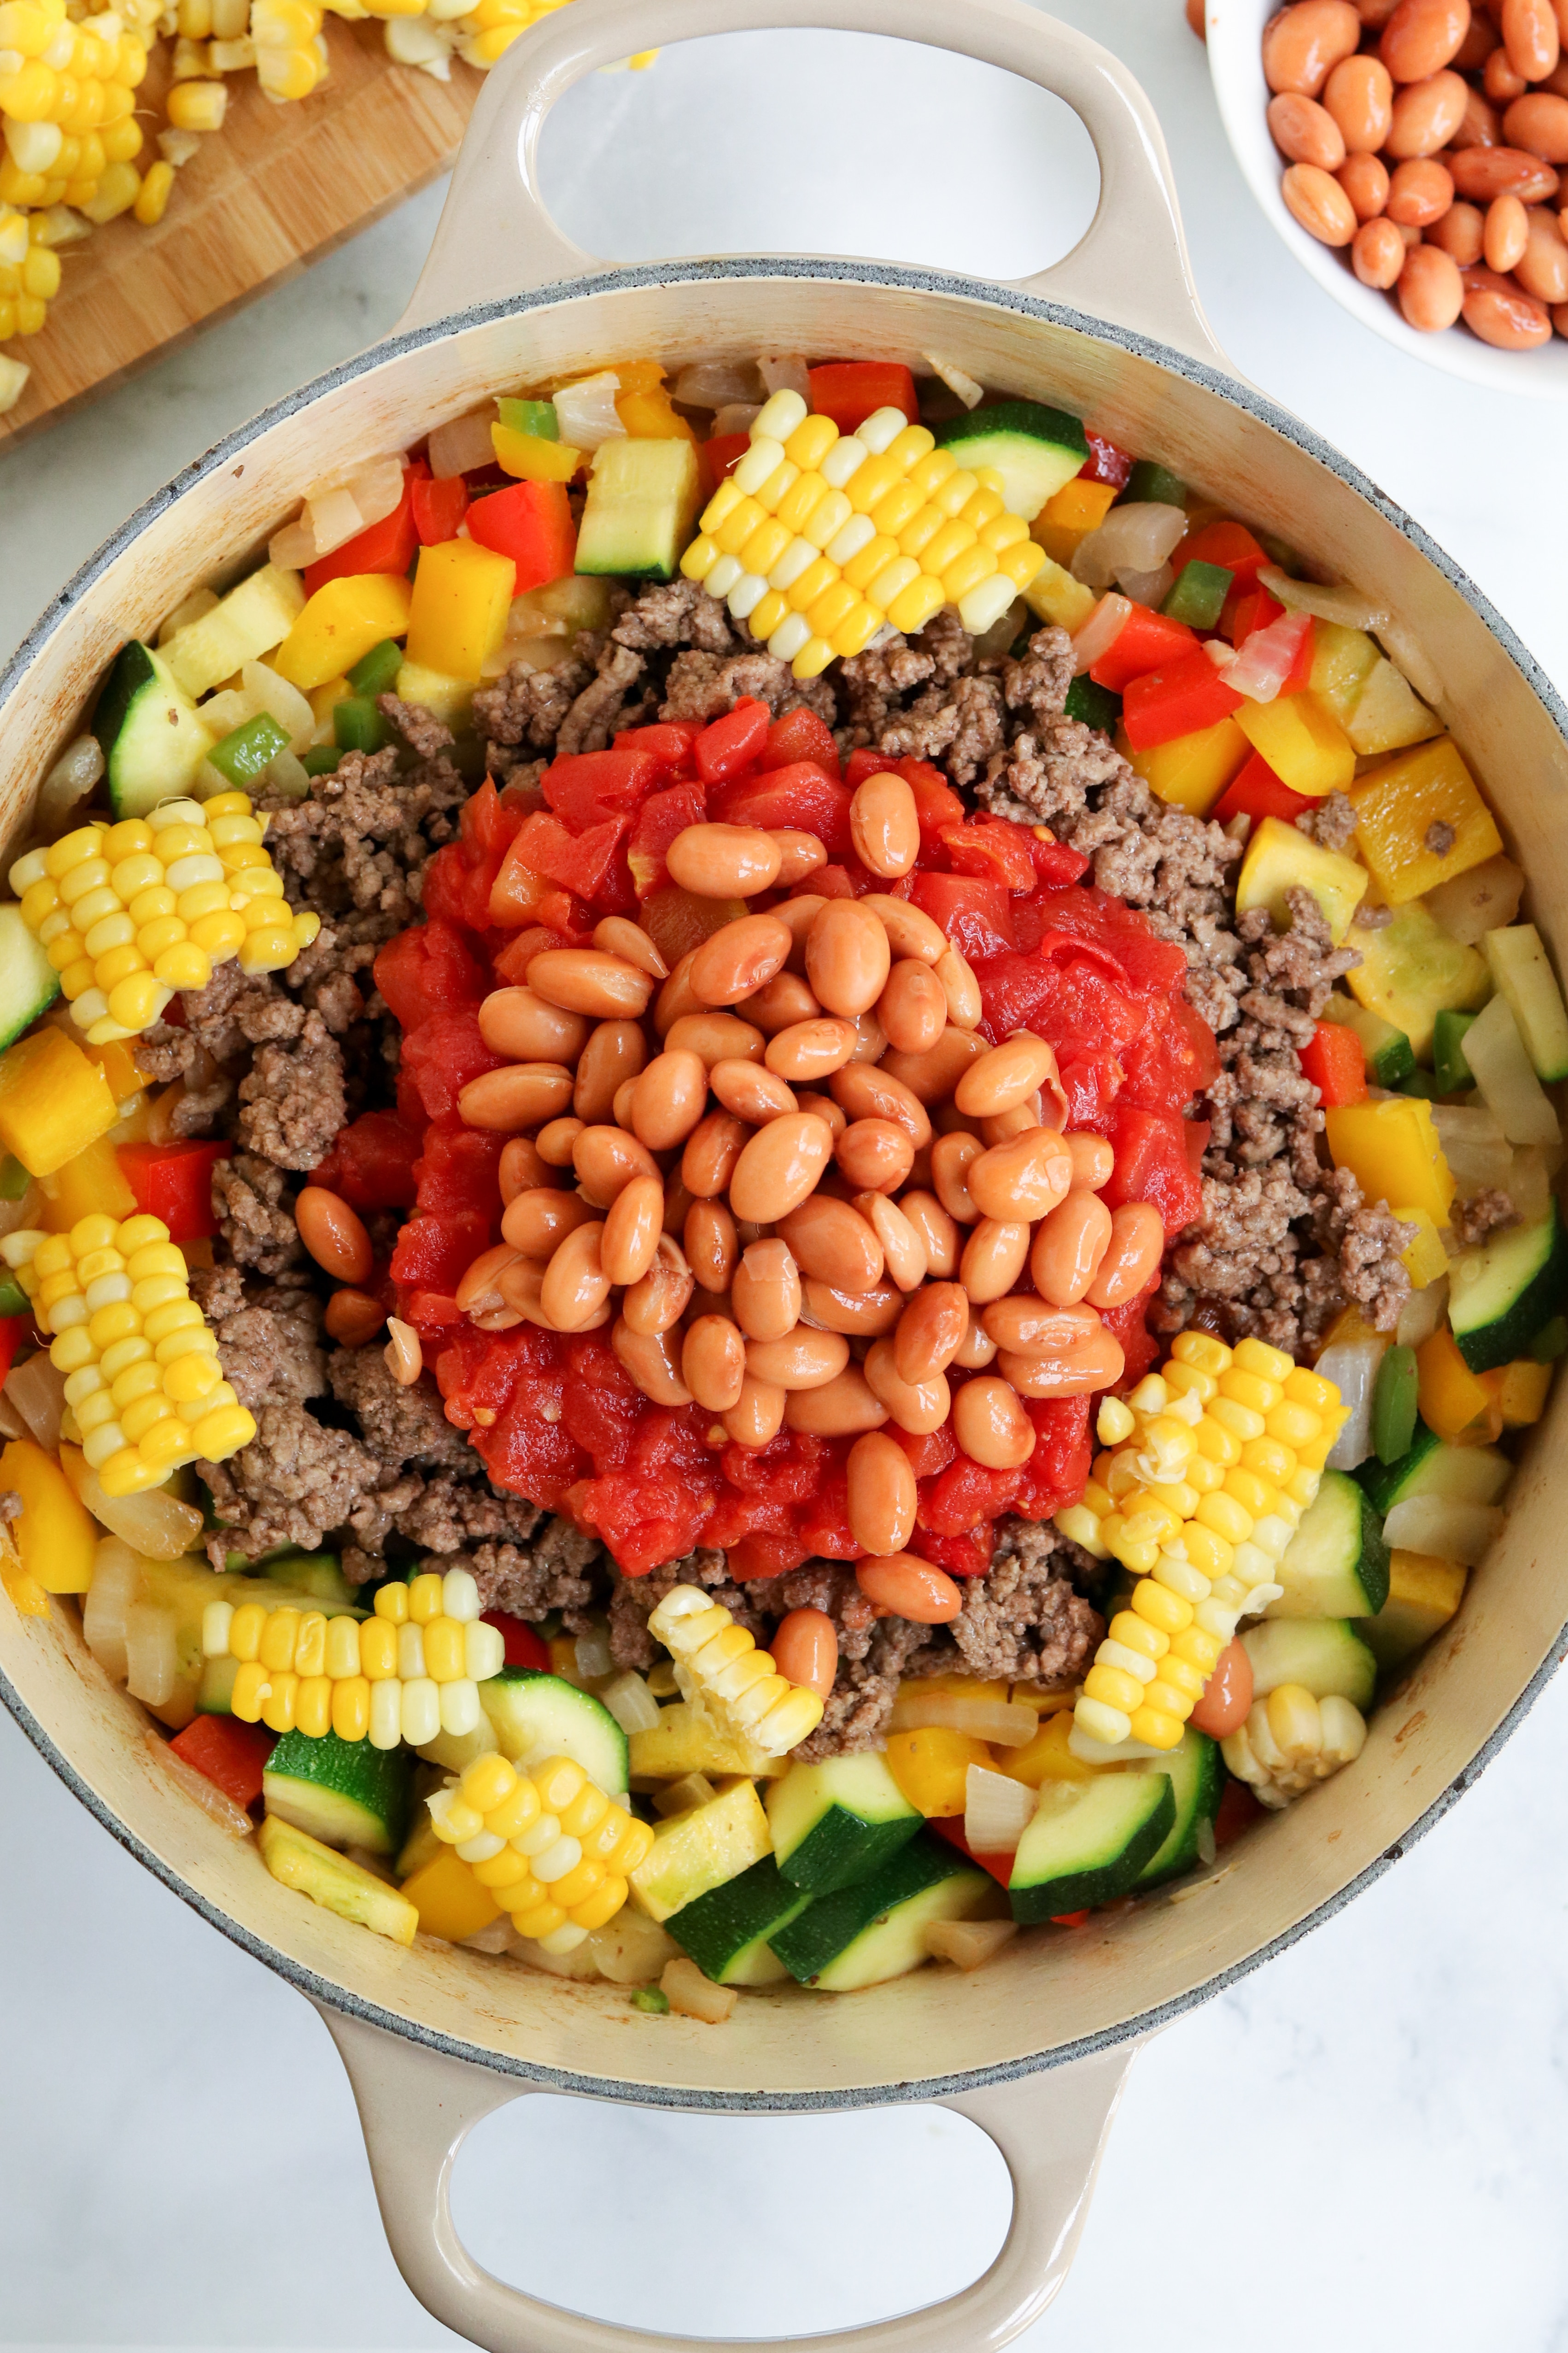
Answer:
MULTIPOLYGON (((1020 0, 576 0, 524 35, 473 118, 430 261, 395 336, 244 426, 169 482, 45 614, 0 678, 5 835, 125 638, 230 569, 310 480, 402 449, 484 393, 637 351, 670 369, 759 348, 940 351, 1013 395, 1056 400, 1237 513, 1302 546, 1413 628, 1443 718, 1486 781, 1530 915, 1568 958, 1568 708, 1476 588, 1307 426, 1229 374, 1192 287, 1159 127, 1093 42, 1020 0), (552 101, 651 42, 769 26, 898 33, 1006 66, 1088 125, 1100 205, 1081 245, 1020 285, 820 256, 602 268, 548 219, 536 179, 552 101)), ((1568 1621, 1559 1384, 1465 1612, 1371 1725, 1361 1760, 1269 1819, 1197 1901, 1152 1901, 1079 1934, 1011 1944, 973 1977, 926 1969, 858 1995, 750 1993, 724 2028, 642 2019, 611 1986, 501 1969, 369 1937, 280 1887, 158 1772, 134 1701, 75 1624, 0 1612, 0 1697, 99 1821, 167 1887, 313 2000, 353 2078, 404 2278, 449 2327, 505 2353, 590 2353, 635 2334, 541 2304, 463 2252, 449 2177, 465 2132, 524 2092, 696 2111, 936 2099, 999 2144, 1013 2177, 1001 2254, 964 2294, 818 2337, 825 2353, 1004 2346, 1072 2259, 1138 2042, 1366 1887, 1469 1786, 1559 1664, 1568 1621)), ((717 2341, 715 2341, 717 2344, 717 2341)), ((738 2348, 736 2348, 738 2353, 738 2348)))

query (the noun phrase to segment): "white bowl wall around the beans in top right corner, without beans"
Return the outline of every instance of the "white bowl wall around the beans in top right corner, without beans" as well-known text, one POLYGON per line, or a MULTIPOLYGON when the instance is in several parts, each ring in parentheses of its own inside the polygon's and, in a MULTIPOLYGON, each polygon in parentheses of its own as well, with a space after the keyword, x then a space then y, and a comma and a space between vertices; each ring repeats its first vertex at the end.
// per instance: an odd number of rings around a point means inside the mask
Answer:
POLYGON ((1286 162, 1269 136, 1269 85, 1262 78, 1262 28, 1276 7, 1279 0, 1208 0, 1213 94, 1220 101, 1232 155, 1241 165, 1265 221, 1340 308, 1380 334, 1385 344, 1396 344, 1413 360, 1441 367, 1446 376, 1483 384, 1493 393, 1568 400, 1568 341, 1561 334, 1554 334, 1544 351, 1493 351, 1469 327, 1418 334, 1415 327, 1406 327, 1392 294, 1363 287, 1342 252, 1319 245, 1291 219, 1279 193, 1286 162))

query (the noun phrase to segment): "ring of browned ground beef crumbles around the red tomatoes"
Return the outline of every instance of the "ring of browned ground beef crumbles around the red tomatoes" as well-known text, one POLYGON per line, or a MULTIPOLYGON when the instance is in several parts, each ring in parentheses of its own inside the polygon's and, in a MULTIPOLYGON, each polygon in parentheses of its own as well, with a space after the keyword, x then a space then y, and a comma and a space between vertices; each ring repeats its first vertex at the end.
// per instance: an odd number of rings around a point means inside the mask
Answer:
MULTIPOLYGON (((654 718, 708 720, 752 694, 776 715, 806 704, 844 751, 936 760, 980 807, 1046 824, 1081 849, 1100 889, 1182 946, 1187 995, 1220 1042, 1220 1075, 1194 1106, 1211 1120, 1204 1214, 1173 1249, 1154 1327, 1197 1320, 1300 1351, 1347 1299, 1380 1329, 1396 1322, 1408 1228, 1321 1162, 1324 1115, 1300 1071, 1300 1047, 1356 953, 1333 948, 1305 892, 1291 894, 1281 936, 1265 913, 1234 920, 1241 845, 1154 800, 1107 736, 1065 715, 1063 631, 985 652, 943 612, 919 638, 891 638, 837 678, 802 685, 722 605, 677 579, 637 598, 616 588, 609 631, 581 631, 562 654, 557 668, 515 666, 475 694, 498 781, 529 784, 555 753, 604 748, 654 718)), ((1077 1682, 1105 1631, 1091 1600, 1103 1572, 1053 1527, 1001 1522, 992 1572, 966 1581, 952 1626, 879 1619, 844 1562, 736 1586, 724 1555, 703 1551, 628 1579, 597 1539, 489 1485, 428 1374, 400 1388, 378 1346, 327 1341, 294 1198, 343 1122, 390 1099, 400 1038, 369 967, 416 920, 425 861, 451 840, 470 791, 437 718, 393 694, 381 711, 397 746, 346 753, 306 800, 273 805, 273 856, 289 904, 320 913, 317 941, 277 976, 219 967, 205 991, 183 995, 186 1026, 160 1024, 139 1049, 150 1078, 183 1085, 176 1134, 235 1144, 214 1169, 216 1264, 195 1289, 259 1431, 233 1461, 200 1466, 223 1520, 209 1539, 214 1562, 327 1539, 355 1584, 386 1574, 388 1544, 393 1562, 465 1562, 484 1607, 567 1633, 607 1612, 618 1668, 654 1666, 646 1621, 679 1581, 705 1586, 759 1642, 785 1612, 811 1605, 835 1621, 839 1675, 797 1751, 806 1760, 879 1741, 905 1675, 1077 1682)), ((1309 812, 1302 831, 1342 847, 1354 831, 1345 795, 1309 812)), ((1507 1195, 1479 1195, 1455 1226, 1486 1231, 1509 1217, 1507 1195)), ((397 1219, 386 1224, 378 1247, 397 1219)))

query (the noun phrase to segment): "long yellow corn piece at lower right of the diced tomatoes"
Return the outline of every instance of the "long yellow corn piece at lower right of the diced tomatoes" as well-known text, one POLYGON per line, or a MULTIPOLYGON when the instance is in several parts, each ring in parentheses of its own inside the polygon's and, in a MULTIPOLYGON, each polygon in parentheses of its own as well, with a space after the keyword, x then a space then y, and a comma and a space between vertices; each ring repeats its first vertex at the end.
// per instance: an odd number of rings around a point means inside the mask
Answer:
POLYGON ((1237 1624, 1279 1595, 1274 1572, 1345 1421, 1333 1381, 1279 1348, 1182 1332, 1159 1374, 1100 1409, 1079 1504, 1056 1527, 1138 1569, 1074 1706, 1072 1741, 1175 1748, 1237 1624))

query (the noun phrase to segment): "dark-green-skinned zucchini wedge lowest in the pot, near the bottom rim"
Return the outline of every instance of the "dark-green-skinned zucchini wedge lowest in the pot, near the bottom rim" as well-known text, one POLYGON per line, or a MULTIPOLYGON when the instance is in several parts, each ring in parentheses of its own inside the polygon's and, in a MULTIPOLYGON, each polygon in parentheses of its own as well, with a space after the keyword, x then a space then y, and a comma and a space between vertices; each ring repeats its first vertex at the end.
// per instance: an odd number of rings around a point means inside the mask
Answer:
POLYGON ((773 1951, 802 1986, 853 1993, 919 1969, 933 1920, 973 1920, 999 1908, 1001 1889, 990 1873, 933 1838, 917 1838, 872 1878, 816 1897, 776 1932, 773 1951))

